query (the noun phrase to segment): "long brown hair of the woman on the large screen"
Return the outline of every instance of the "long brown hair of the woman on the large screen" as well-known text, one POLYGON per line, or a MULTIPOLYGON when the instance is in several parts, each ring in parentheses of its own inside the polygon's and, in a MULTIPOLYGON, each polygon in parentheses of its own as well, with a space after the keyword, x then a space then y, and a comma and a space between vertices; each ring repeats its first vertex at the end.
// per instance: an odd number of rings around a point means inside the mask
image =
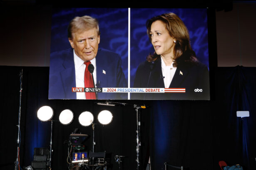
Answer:
MULTIPOLYGON (((196 54, 191 49, 189 31, 186 28, 186 25, 176 14, 165 13, 147 20, 147 34, 150 41, 152 41, 150 36, 151 25, 155 21, 163 22, 170 36, 176 39, 176 43, 174 46, 174 66, 178 66, 180 63, 183 62, 197 61, 196 54)), ((147 56, 147 61, 152 62, 157 60, 157 58, 159 57, 159 55, 156 55, 156 53, 154 53, 154 55, 147 56)))

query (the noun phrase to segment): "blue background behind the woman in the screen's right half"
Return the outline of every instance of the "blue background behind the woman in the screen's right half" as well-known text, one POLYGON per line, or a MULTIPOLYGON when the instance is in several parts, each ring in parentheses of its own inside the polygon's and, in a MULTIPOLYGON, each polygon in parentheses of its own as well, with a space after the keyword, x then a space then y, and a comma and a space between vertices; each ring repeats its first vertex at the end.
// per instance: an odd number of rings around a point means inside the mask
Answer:
POLYGON ((154 48, 147 36, 146 21, 164 13, 178 15, 189 30, 191 47, 196 57, 209 68, 207 9, 131 9, 131 57, 130 86, 133 87, 135 73, 139 63, 146 60, 154 48))

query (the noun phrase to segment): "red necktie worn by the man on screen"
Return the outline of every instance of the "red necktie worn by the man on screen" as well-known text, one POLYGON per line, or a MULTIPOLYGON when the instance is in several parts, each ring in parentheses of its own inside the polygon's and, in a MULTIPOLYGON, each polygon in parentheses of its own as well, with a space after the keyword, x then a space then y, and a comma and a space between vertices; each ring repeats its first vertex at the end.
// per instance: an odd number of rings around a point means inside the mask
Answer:
MULTIPOLYGON (((87 62, 84 63, 86 65, 86 68, 85 68, 85 87, 93 88, 94 85, 93 85, 92 75, 88 70, 88 66, 89 66, 90 63, 91 63, 91 61, 87 61, 87 62)), ((86 97, 86 99, 96 99, 95 92, 85 92, 85 97, 86 97)))

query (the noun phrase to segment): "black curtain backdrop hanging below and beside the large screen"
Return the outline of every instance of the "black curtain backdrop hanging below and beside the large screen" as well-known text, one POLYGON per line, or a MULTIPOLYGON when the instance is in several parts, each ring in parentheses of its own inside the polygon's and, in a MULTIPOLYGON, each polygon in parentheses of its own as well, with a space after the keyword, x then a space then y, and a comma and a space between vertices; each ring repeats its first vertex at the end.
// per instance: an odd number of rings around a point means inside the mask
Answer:
MULTIPOLYGON (((83 127, 78 117, 83 111, 97 114, 108 109, 111 124, 95 125, 95 151, 106 151, 109 170, 118 170, 114 155, 125 155, 123 170, 135 170, 136 112, 132 106, 99 106, 94 100, 48 100, 48 67, 0 66, 0 170, 14 169, 17 155, 19 109, 19 73, 23 68, 20 166, 31 165, 35 147, 50 146, 50 122, 41 122, 36 113, 43 105, 54 109, 58 120, 63 109, 71 109, 70 125, 53 123, 52 169, 67 169, 67 145, 64 141, 75 128, 88 134, 87 150, 92 150, 92 126, 83 127)), ((245 170, 256 169, 256 68, 242 66, 211 70, 210 101, 117 101, 145 104, 141 110, 140 167, 145 169, 148 156, 152 170, 164 169, 164 162, 190 170, 218 170, 219 160, 228 165, 241 164, 245 170), (214 73, 213 73, 214 72, 214 73), (248 110, 249 118, 236 117, 237 110, 248 110)), ((104 101, 99 101, 104 102, 104 101)), ((171 168, 169 168, 171 170, 171 168)))

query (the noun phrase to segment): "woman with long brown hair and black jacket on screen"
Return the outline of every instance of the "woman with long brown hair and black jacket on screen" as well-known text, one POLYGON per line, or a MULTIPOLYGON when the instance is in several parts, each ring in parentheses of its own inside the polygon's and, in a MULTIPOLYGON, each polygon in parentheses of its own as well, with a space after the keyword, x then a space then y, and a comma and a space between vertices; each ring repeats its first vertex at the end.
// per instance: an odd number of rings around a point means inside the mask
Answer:
POLYGON ((208 68, 191 49, 189 31, 182 20, 174 13, 166 13, 147 20, 146 25, 155 51, 137 68, 134 87, 185 88, 185 92, 141 93, 132 98, 209 100, 208 68))

